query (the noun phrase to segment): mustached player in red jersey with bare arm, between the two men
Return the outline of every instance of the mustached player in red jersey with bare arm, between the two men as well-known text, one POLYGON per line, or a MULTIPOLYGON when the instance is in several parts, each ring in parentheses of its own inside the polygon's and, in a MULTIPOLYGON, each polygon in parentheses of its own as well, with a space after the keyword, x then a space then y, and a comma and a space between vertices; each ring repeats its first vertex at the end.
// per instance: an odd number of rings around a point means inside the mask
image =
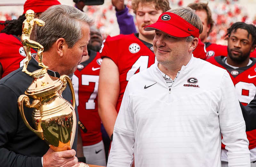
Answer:
POLYGON ((132 0, 138 34, 108 36, 103 41, 103 58, 99 79, 99 115, 111 138, 128 80, 155 62, 153 38, 155 32, 144 27, 156 22, 160 14, 170 9, 168 0, 132 0))

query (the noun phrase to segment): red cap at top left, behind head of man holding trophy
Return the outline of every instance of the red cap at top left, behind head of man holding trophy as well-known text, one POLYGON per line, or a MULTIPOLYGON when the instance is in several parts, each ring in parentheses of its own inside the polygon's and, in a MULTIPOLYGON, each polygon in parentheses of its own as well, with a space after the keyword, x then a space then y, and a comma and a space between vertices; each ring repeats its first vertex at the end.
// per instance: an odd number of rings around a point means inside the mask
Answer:
POLYGON ((57 0, 27 0, 24 4, 23 14, 29 9, 35 13, 41 13, 53 5, 60 5, 60 2, 57 0))

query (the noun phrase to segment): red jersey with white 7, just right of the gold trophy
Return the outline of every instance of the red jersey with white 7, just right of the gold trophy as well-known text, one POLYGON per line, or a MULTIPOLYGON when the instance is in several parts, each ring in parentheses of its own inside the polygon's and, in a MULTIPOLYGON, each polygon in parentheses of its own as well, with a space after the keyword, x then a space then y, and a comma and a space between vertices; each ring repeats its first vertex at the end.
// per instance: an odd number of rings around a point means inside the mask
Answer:
POLYGON ((72 77, 79 121, 87 129, 86 133, 81 129, 83 146, 93 145, 102 140, 97 100, 102 59, 99 52, 90 50, 89 55, 88 60, 77 65, 77 70, 72 77))

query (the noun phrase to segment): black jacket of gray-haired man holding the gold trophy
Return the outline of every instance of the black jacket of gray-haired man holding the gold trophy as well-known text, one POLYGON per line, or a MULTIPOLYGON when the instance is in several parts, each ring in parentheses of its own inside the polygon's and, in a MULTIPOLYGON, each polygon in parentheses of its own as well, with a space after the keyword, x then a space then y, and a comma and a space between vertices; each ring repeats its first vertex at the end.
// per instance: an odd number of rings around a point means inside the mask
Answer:
MULTIPOLYGON (((34 58, 28 64, 28 71, 34 72, 41 67, 34 58)), ((58 72, 48 70, 48 74, 60 77, 58 72)), ((22 67, 0 80, 0 166, 4 167, 40 167, 41 158, 49 146, 35 133, 30 131, 21 118, 18 98, 32 83, 32 77, 22 72, 22 67)), ((67 85, 62 96, 71 103, 72 96, 67 85)), ((32 100, 30 101, 32 102, 32 100)), ((78 112, 76 110, 76 120, 78 112)), ((33 109, 24 107, 28 123, 34 128, 31 115, 33 109)), ((76 150, 77 128, 73 149, 76 150)))

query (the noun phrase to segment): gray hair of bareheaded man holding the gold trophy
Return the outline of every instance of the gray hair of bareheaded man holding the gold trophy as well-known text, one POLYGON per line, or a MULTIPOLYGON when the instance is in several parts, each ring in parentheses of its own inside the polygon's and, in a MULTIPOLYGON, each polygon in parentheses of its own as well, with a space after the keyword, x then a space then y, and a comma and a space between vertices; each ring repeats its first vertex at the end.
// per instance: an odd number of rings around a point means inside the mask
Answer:
POLYGON ((53 5, 39 19, 45 21, 45 26, 36 26, 35 38, 44 46, 44 51, 49 50, 59 38, 64 38, 68 48, 72 48, 82 38, 82 24, 94 24, 94 19, 85 12, 69 5, 53 5))

